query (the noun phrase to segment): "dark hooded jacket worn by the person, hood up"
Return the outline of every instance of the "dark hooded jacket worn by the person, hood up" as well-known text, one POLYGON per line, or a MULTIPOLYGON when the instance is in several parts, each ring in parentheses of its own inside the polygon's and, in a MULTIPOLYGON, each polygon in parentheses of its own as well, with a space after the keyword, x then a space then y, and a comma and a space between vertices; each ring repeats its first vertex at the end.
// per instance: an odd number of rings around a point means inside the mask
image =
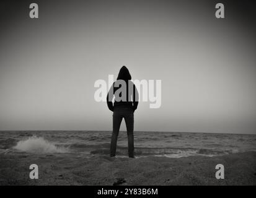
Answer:
MULTIPOLYGON (((123 88, 121 90, 123 90, 123 88)), ((108 109, 110 111, 113 111, 116 106, 123 106, 123 107, 132 108, 133 111, 135 111, 138 106, 138 96, 139 96, 138 90, 136 89, 135 84, 131 82, 131 74, 129 70, 125 66, 121 67, 117 77, 117 81, 113 83, 112 87, 108 91, 108 95, 107 95, 108 109), (122 84, 126 86, 126 98, 125 98, 125 95, 123 95, 123 98, 122 98, 122 94, 124 93, 118 90, 121 88, 122 84), (119 92, 117 92, 117 90, 119 92), (114 96, 115 96, 115 101, 113 103, 114 96), (117 101, 116 100, 117 97, 122 99, 120 101, 117 101)))

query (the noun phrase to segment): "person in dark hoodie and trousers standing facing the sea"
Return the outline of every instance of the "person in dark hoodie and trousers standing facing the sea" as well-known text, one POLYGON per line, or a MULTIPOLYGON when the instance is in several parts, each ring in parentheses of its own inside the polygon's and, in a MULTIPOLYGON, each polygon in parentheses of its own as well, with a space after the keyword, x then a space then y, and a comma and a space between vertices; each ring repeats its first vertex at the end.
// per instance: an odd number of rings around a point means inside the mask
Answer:
POLYGON ((134 112, 138 106, 138 90, 131 82, 131 74, 127 67, 121 67, 117 81, 115 81, 108 91, 107 105, 113 111, 113 132, 110 144, 110 157, 115 157, 117 150, 117 138, 121 121, 124 118, 128 136, 128 155, 134 157, 133 125, 134 112), (113 98, 115 101, 113 103, 113 98))

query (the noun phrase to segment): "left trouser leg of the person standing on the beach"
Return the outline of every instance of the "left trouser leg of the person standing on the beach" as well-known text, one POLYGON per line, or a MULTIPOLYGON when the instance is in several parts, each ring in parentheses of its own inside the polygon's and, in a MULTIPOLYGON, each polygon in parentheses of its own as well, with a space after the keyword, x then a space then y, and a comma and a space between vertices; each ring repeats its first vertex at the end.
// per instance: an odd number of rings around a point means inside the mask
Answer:
POLYGON ((113 113, 113 132, 110 144, 110 157, 115 156, 115 151, 117 150, 117 137, 119 134, 119 129, 121 125, 121 114, 118 112, 113 113))

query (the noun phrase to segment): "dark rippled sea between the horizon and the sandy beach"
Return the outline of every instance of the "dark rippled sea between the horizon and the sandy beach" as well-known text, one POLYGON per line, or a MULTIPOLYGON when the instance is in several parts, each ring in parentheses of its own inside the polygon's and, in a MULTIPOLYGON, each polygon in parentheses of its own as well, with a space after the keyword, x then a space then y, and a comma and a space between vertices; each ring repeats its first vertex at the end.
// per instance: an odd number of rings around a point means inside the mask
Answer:
MULTIPOLYGON (((0 131, 0 153, 108 156, 111 135, 111 131, 0 131)), ((138 131, 134 132, 134 137, 137 158, 180 158, 195 155, 213 157, 256 151, 254 134, 138 131)), ((128 156, 127 141, 126 132, 120 131, 117 157, 128 156)))

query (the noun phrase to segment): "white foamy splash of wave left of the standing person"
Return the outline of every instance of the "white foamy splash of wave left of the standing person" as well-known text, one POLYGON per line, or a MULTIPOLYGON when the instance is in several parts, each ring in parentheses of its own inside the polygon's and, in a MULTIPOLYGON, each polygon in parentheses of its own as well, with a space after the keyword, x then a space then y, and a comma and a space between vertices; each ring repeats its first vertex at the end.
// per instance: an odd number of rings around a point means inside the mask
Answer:
POLYGON ((64 147, 58 147, 55 144, 48 142, 43 137, 32 136, 25 140, 20 140, 15 145, 14 149, 23 152, 32 153, 65 153, 68 149, 64 147))

